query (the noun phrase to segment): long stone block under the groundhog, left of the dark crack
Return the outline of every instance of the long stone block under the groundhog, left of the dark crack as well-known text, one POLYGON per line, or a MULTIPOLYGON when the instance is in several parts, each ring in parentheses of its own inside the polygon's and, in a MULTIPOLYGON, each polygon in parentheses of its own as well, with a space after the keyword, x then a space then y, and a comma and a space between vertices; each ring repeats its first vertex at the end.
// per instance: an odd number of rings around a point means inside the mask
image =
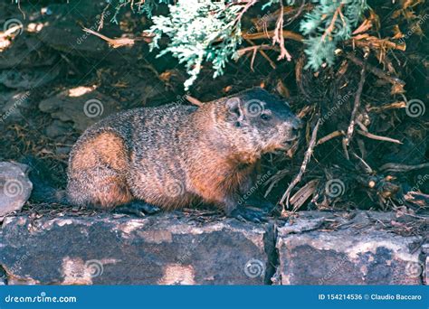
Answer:
POLYGON ((12 285, 261 285, 272 276, 273 237, 272 224, 174 213, 8 217, 0 265, 12 285))

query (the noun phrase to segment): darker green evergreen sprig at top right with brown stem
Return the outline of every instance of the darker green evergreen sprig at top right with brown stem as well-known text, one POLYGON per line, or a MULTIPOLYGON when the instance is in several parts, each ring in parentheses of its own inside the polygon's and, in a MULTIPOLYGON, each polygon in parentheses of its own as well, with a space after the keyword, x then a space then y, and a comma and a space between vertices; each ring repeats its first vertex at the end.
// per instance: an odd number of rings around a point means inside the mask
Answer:
POLYGON ((323 62, 334 63, 338 42, 350 38, 360 16, 367 9, 366 0, 313 0, 314 9, 305 14, 300 32, 307 39, 305 53, 309 60, 306 68, 319 70, 323 62))

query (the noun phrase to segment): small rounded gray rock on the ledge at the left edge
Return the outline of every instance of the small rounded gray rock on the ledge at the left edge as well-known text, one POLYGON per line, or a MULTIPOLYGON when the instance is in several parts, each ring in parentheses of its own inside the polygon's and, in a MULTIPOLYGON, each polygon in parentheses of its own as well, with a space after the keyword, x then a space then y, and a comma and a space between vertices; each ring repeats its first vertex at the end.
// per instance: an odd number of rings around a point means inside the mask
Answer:
POLYGON ((12 212, 20 211, 33 190, 27 177, 25 164, 0 162, 0 220, 12 212))

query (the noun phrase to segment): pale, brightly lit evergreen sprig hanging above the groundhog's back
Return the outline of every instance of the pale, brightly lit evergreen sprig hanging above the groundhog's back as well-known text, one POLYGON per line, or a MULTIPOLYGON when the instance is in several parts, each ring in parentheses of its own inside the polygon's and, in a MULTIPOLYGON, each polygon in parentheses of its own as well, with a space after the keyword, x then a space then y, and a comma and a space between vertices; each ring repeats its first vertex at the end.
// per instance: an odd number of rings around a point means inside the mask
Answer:
POLYGON ((230 57, 236 56, 242 42, 240 21, 242 6, 226 8, 223 3, 199 0, 179 0, 169 5, 169 16, 154 16, 150 32, 155 34, 151 50, 158 48, 158 40, 165 34, 170 38, 166 49, 158 57, 171 52, 180 63, 185 63, 190 78, 185 88, 193 84, 203 61, 211 61, 214 78, 224 73, 230 57))

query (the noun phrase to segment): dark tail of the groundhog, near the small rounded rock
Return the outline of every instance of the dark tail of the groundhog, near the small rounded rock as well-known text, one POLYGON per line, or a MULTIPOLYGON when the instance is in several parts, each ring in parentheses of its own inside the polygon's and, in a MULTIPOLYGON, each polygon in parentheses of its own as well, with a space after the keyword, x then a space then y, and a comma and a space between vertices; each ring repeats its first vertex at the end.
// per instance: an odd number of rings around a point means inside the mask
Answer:
POLYGON ((56 187, 52 172, 42 159, 28 155, 21 162, 30 166, 29 178, 33 183, 31 201, 69 204, 65 191, 56 187))

